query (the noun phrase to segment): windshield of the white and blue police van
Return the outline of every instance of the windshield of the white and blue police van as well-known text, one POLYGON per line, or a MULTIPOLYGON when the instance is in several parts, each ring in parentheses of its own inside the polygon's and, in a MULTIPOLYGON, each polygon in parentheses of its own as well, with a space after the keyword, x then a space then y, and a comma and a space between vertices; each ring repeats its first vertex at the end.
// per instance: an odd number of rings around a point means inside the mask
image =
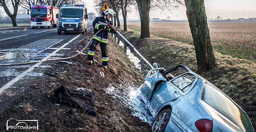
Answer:
POLYGON ((60 17, 83 17, 83 9, 63 8, 60 11, 60 17))

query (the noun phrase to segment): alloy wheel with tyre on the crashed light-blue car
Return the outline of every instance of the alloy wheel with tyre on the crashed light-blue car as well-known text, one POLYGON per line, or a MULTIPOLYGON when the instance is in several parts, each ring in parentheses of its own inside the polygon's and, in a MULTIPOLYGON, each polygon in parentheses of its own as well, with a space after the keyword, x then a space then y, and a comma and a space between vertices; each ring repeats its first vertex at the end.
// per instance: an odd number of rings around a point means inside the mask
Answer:
POLYGON ((153 124, 151 127, 152 132, 164 132, 170 120, 171 113, 171 109, 165 109, 160 112, 153 120, 153 124))

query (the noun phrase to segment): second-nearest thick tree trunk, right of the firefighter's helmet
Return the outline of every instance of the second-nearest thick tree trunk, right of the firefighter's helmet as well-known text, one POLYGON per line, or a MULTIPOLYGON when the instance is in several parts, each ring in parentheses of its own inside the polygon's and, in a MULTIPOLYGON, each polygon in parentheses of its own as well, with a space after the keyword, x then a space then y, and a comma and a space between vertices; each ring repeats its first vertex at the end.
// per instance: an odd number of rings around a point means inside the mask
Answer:
POLYGON ((149 11, 151 0, 136 0, 140 14, 140 39, 150 38, 149 32, 149 11))

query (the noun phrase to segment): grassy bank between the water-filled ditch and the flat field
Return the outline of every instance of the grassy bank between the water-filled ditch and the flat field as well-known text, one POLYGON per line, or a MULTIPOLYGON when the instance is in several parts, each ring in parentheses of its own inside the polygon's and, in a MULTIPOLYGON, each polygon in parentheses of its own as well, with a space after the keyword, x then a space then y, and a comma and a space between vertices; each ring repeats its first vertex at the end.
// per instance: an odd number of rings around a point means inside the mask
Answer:
MULTIPOLYGON (((170 39, 140 38, 140 32, 130 30, 123 34, 149 62, 157 62, 165 69, 178 64, 196 72, 196 58, 192 45, 170 39)), ((252 61, 233 58, 214 52, 218 67, 201 74, 212 82, 247 113, 256 130, 256 64, 252 61)))

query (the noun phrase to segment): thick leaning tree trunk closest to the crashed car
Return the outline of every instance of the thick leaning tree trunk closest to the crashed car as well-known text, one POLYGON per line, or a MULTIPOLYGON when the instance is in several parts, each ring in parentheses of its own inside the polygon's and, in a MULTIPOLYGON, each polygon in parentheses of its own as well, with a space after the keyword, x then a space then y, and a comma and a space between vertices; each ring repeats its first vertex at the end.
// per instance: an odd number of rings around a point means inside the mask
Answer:
POLYGON ((185 0, 187 17, 195 47, 198 72, 212 70, 217 67, 210 41, 204 0, 185 0))

